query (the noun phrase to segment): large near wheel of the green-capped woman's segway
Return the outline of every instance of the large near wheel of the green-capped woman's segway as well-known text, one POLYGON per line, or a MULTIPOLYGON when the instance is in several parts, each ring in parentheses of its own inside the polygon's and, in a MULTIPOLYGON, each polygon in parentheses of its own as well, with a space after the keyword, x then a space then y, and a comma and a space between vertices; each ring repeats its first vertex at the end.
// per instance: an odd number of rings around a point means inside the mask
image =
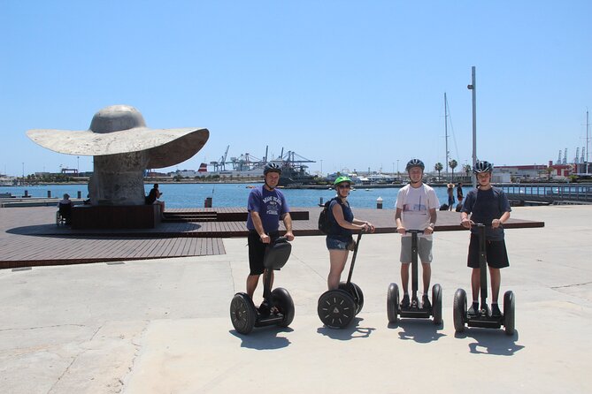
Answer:
POLYGON ((320 321, 330 329, 342 329, 356 315, 354 299, 349 292, 329 290, 321 294, 317 307, 320 321))

